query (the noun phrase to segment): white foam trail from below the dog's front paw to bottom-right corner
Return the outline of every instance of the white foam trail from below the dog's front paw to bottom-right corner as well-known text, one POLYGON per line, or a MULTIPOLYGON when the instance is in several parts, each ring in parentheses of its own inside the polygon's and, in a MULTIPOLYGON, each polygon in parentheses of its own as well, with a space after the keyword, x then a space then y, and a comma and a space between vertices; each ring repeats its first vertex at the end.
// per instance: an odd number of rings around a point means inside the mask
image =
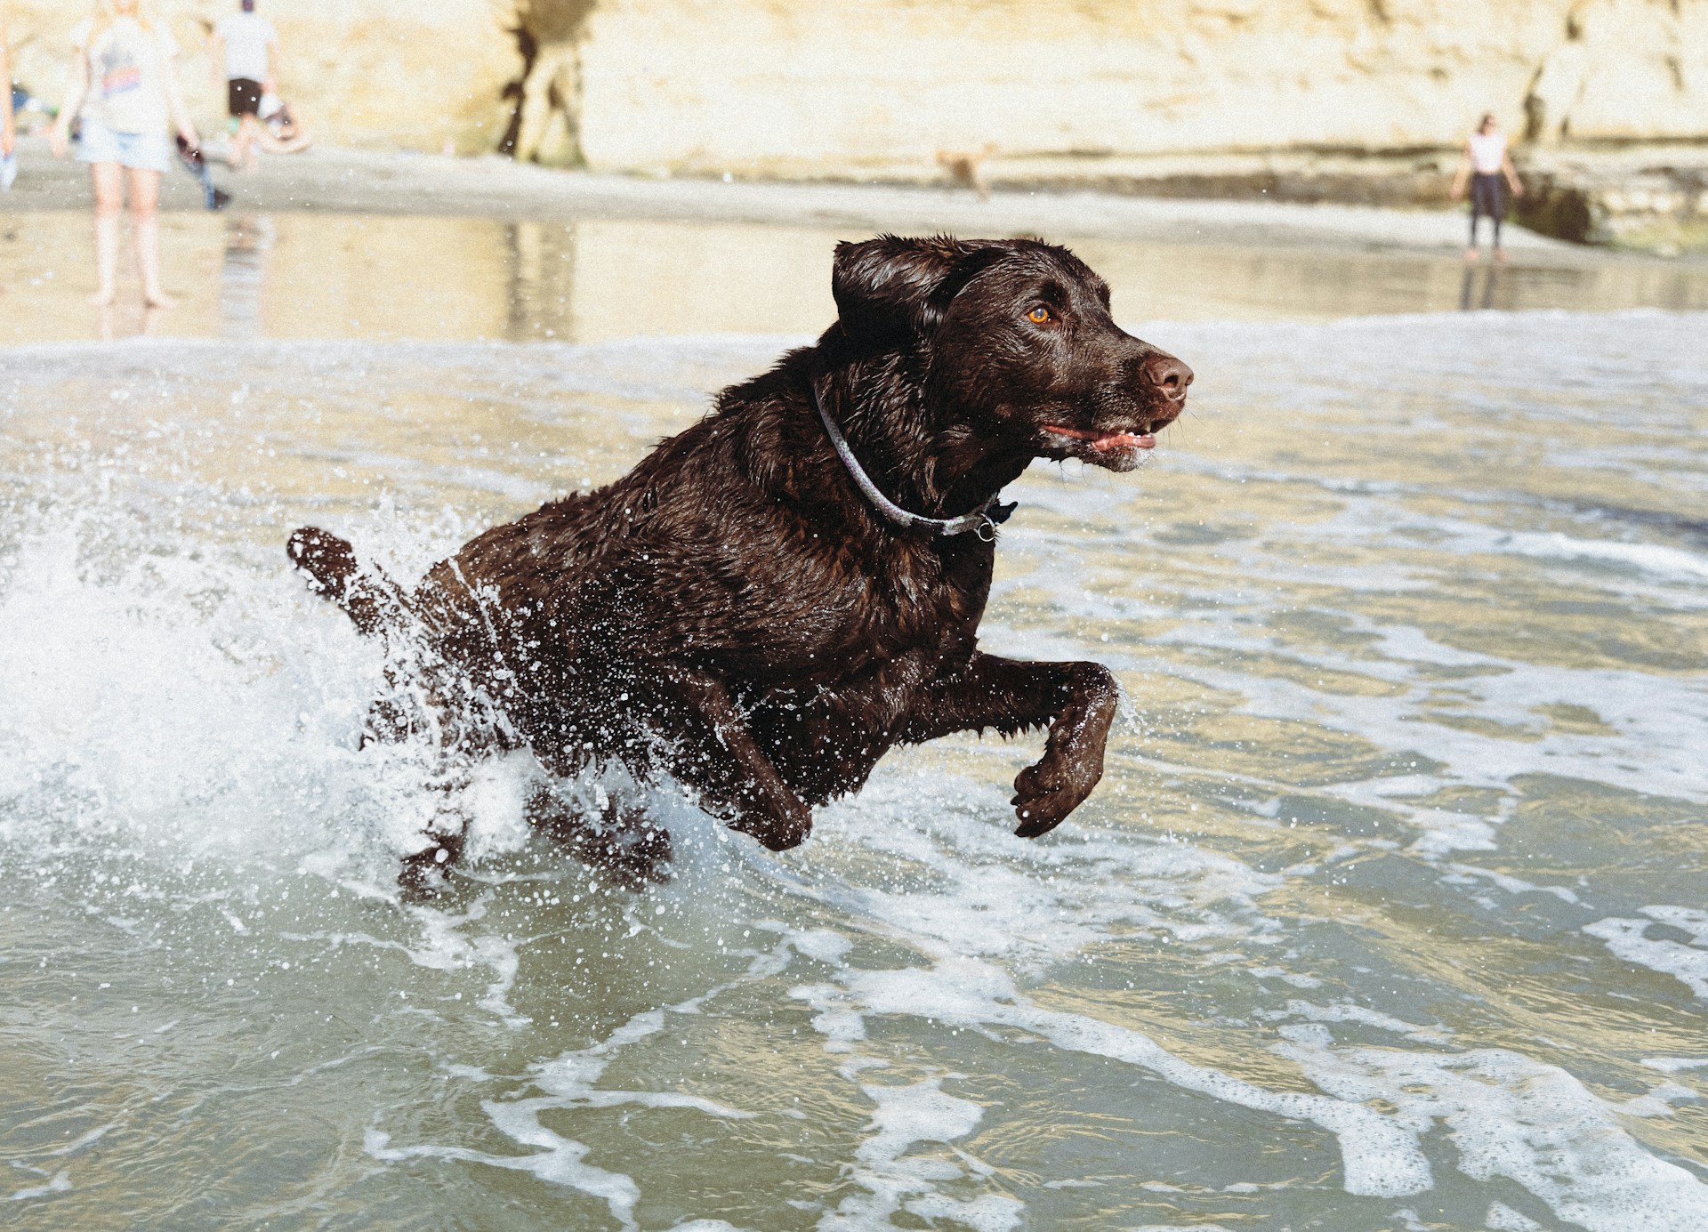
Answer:
MULTIPOLYGON (((890 848, 892 841, 880 837, 878 844, 890 848)), ((929 859, 917 841, 904 846, 914 858, 929 859)), ((955 858, 977 859, 977 854, 956 851, 955 858)), ((965 878, 967 885, 975 882, 975 877, 965 878)), ((1182 1090, 1310 1121, 1337 1138, 1342 1184, 1353 1194, 1404 1196, 1430 1189, 1436 1177, 1421 1138, 1442 1123, 1459 1147, 1462 1172, 1484 1181, 1493 1176, 1513 1179, 1585 1227, 1628 1227, 1621 1220, 1641 1211, 1657 1220, 1657 1229, 1682 1230, 1693 1227, 1693 1218, 1708 1217, 1708 1188, 1688 1170, 1650 1155, 1617 1124, 1619 1114, 1653 1114, 1653 1100, 1607 1104, 1583 1090, 1565 1070, 1515 1053, 1435 1051, 1447 1039, 1447 1032, 1435 1027, 1419 1027, 1358 1005, 1290 1001, 1283 1017, 1307 1022, 1283 1027, 1284 1042, 1278 1051, 1296 1061, 1324 1090, 1322 1095, 1307 1095, 1267 1090, 1189 1063, 1129 1027, 1038 1006, 1004 969, 1025 948, 1018 943, 1025 924, 1016 928, 1016 921, 1025 921, 1030 912, 1015 899, 1028 895, 1042 899, 1047 892, 1035 878, 1003 883, 994 895, 1003 901, 1003 909, 992 911, 982 902, 987 909, 963 912, 955 923, 938 923, 909 914, 900 904, 869 890, 827 887, 822 890, 825 901, 857 911, 873 931, 905 940, 927 957, 927 965, 874 971, 842 964, 834 984, 798 986, 793 994, 813 1008, 813 1025, 830 1053, 859 1058, 869 1015, 929 1018, 936 1029, 1009 1027, 1064 1051, 1107 1056, 1149 1070, 1182 1090), (1433 1047, 1407 1053, 1334 1047, 1325 1024, 1336 1022, 1389 1030, 1433 1047), (1481 1099, 1484 1083, 1494 1083, 1503 1094, 1481 1099), (1397 1111, 1378 1112, 1370 1107, 1372 1100, 1389 1100, 1397 1111), (1576 1136, 1549 1136, 1546 1126, 1554 1124, 1561 1109, 1588 1128, 1576 1136), (1568 1152, 1565 1164, 1558 1162, 1559 1150, 1568 1152)), ((955 890, 939 890, 939 897, 965 902, 955 890)), ((1699 923, 1694 918, 1684 921, 1691 926, 1699 923)), ((1090 945, 1103 928, 1102 923, 1085 926, 1074 935, 1074 943, 1090 945)))

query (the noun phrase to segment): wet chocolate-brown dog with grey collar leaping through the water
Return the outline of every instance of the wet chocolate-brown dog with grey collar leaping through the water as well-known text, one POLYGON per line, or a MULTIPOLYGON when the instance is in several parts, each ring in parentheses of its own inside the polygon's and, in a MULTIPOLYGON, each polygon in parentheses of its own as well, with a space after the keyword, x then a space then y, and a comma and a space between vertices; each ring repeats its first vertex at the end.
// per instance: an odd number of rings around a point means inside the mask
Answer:
MULTIPOLYGON (((364 632, 417 648, 446 745, 555 776, 659 771, 767 848, 897 743, 1049 726, 1015 779, 1025 837, 1103 774, 1097 663, 984 654, 996 497, 1033 458, 1131 470, 1192 371, 1115 326, 1108 289, 1037 241, 839 244, 839 320, 724 390, 629 475, 494 526, 405 595, 306 526, 290 559, 364 632)), ((415 859, 454 858, 456 836, 415 859)))

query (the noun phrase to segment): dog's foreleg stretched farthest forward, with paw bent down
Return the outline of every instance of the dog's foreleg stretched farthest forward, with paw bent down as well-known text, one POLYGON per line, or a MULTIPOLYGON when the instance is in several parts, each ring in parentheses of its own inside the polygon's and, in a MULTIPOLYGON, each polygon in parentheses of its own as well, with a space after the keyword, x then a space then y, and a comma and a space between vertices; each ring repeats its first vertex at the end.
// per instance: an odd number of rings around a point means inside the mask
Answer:
POLYGON ((1103 745, 1120 690, 1102 663, 1023 663, 974 654, 965 670, 938 682, 909 716, 905 743, 951 731, 996 728, 1015 735, 1049 725, 1044 757, 1015 777, 1015 812, 1023 839, 1057 825, 1103 777, 1103 745))

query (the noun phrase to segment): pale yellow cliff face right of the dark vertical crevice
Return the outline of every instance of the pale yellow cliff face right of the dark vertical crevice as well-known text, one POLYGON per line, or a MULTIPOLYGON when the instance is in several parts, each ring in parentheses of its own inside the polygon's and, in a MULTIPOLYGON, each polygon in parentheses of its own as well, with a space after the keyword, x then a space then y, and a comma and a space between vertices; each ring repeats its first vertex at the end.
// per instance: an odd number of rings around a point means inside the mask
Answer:
POLYGON ((600 0, 594 167, 1708 135, 1708 0, 600 0))

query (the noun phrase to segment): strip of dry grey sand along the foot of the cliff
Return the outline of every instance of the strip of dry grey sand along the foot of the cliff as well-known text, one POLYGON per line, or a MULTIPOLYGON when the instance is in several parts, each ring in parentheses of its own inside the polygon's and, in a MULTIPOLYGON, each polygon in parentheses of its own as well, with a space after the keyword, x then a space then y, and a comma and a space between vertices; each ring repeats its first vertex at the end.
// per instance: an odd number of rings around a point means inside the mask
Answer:
MULTIPOLYGON (((234 173, 219 157, 222 152, 224 144, 210 142, 215 183, 232 193, 231 208, 244 214, 685 220, 849 227, 861 234, 950 231, 1435 255, 1459 251, 1465 243, 1462 207, 1237 202, 1004 186, 980 198, 972 190, 950 186, 640 178, 550 169, 499 155, 340 147, 263 157, 258 171, 234 173)), ((202 208, 200 186, 188 174, 166 176, 161 198, 162 210, 202 208)), ((44 138, 19 138, 19 179, 0 198, 0 208, 79 210, 89 203, 82 164, 73 157, 55 161, 44 138)), ((1517 224, 1508 224, 1503 238, 1529 265, 1694 263, 1688 256, 1662 260, 1570 244, 1517 224)))

